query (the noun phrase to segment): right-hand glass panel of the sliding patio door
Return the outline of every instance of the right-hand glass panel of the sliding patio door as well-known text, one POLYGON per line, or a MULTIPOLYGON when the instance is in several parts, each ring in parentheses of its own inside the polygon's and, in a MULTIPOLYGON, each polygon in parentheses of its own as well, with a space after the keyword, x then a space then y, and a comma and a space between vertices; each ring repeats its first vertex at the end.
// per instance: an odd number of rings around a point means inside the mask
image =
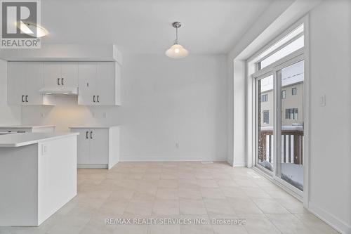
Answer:
POLYGON ((303 82, 304 61, 277 70, 277 176, 303 190, 303 82))

